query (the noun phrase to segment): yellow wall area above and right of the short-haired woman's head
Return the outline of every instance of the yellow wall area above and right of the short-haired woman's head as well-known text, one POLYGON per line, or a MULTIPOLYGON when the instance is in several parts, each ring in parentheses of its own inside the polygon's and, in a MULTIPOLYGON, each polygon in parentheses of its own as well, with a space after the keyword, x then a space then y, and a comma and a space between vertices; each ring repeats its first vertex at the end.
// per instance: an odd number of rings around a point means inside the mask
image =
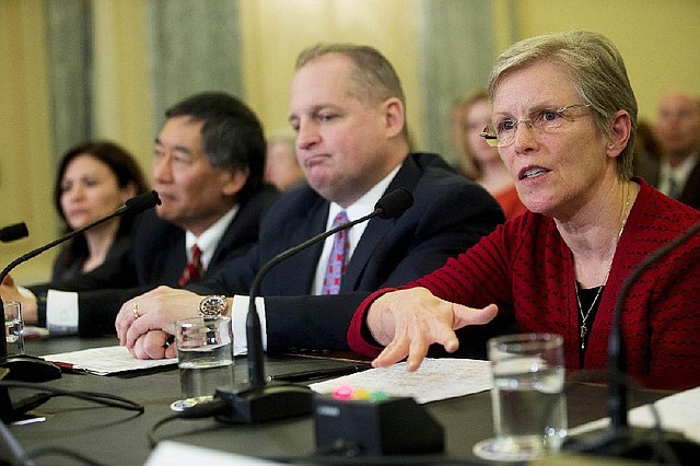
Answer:
POLYGON ((654 118, 669 89, 700 95, 698 0, 525 0, 521 7, 523 36, 586 28, 609 37, 625 57, 641 118, 654 118))

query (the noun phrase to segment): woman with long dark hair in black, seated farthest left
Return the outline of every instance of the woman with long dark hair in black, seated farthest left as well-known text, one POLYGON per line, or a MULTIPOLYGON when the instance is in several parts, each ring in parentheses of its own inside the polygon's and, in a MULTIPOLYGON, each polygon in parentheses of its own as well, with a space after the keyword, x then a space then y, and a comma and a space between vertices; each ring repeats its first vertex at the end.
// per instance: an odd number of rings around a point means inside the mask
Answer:
MULTIPOLYGON (((88 141, 63 155, 54 203, 66 230, 74 231, 145 190, 143 174, 129 152, 114 142, 88 141)), ((88 273, 109 281, 128 252, 132 223, 132 217, 116 218, 72 238, 54 263, 51 281, 68 282, 88 273)))

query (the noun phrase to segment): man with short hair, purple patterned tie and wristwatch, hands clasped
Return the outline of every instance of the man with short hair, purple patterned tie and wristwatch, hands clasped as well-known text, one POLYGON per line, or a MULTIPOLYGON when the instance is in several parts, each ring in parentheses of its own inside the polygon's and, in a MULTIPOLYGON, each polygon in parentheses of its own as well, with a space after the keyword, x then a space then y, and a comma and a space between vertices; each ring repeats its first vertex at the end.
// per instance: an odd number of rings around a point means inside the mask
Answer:
POLYGON ((336 238, 329 237, 270 269, 262 280, 258 310, 268 351, 347 349, 348 324, 362 296, 434 270, 493 230, 503 213, 486 190, 440 156, 409 152, 404 108, 399 79, 378 51, 330 45, 302 53, 291 86, 290 123, 308 185, 271 207, 259 244, 247 257, 189 291, 162 287, 125 303, 116 321, 120 342, 138 358, 172 357, 174 348, 164 345, 172 323, 196 315, 211 298, 202 294, 222 293, 228 298, 220 312, 233 315, 234 345, 245 347, 247 296, 231 296, 246 293, 267 260, 329 229, 336 217, 361 218, 385 193, 406 187, 416 203, 398 219, 373 219, 346 236, 336 234, 349 240, 345 253, 331 254, 336 238), (335 265, 327 265, 340 256, 349 256, 349 263, 341 266, 334 289, 326 271, 335 265), (130 311, 133 305, 139 317, 130 311))

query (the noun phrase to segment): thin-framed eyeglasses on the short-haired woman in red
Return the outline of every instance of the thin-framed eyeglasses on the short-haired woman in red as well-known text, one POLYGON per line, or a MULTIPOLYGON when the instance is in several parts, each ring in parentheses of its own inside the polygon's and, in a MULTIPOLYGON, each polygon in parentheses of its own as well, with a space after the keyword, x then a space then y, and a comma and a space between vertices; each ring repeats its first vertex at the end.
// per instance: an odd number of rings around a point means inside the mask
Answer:
POLYGON ((504 118, 494 125, 489 125, 479 133, 492 148, 505 148, 515 140, 515 130, 524 123, 530 130, 542 133, 551 132, 560 128, 564 121, 573 121, 570 110, 574 108, 590 108, 591 105, 573 104, 557 109, 537 109, 525 119, 512 120, 504 118))

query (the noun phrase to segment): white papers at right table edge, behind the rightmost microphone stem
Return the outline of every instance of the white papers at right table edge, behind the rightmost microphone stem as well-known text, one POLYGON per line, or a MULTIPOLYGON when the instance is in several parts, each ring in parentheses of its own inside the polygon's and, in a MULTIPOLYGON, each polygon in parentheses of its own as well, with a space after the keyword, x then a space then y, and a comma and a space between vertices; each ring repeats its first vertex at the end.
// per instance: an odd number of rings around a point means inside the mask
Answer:
MULTIPOLYGON (((700 387, 680 392, 654 403, 664 430, 679 432, 686 438, 700 443, 700 387)), ((630 426, 652 428, 654 416, 651 405, 639 406, 629 410, 630 426)), ((571 435, 603 429, 610 424, 610 418, 598 419, 569 430, 571 435)))

